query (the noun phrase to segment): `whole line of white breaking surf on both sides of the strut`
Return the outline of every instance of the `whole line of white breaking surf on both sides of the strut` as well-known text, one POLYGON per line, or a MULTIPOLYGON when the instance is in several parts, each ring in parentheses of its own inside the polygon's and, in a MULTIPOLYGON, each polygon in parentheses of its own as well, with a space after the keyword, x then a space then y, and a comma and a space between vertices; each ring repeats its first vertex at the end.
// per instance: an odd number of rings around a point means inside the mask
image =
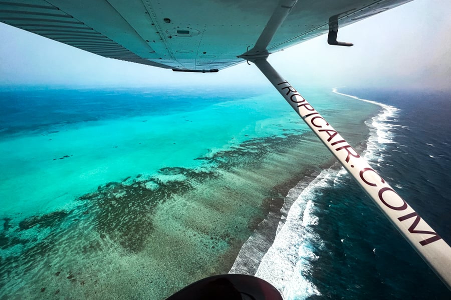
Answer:
MULTIPOLYGON (((395 116, 399 109, 340 93, 336 88, 332 91, 383 108, 379 114, 365 122, 370 129, 370 136, 366 150, 362 153, 370 162, 379 163, 382 159, 380 152, 384 149, 384 144, 393 142, 391 128, 394 125, 388 122, 389 118, 395 116)), ((305 180, 300 181, 285 198, 288 203, 295 200, 288 213, 282 211, 274 242, 261 258, 255 275, 276 286, 286 300, 306 299, 312 295, 321 295, 315 284, 308 279, 311 274, 312 262, 318 259, 315 248, 321 247, 323 243, 315 232, 315 225, 318 222, 318 217, 315 215, 315 200, 320 189, 339 184, 346 175, 346 170, 338 167, 336 163, 329 169, 323 170, 307 186, 305 180)), ((285 204, 284 207, 286 207, 285 204)), ((253 241, 251 236, 243 249, 252 248, 253 241)), ((240 252, 240 254, 242 253, 240 252)), ((246 264, 246 261, 243 260, 247 260, 246 257, 239 255, 231 272, 240 272, 240 265, 246 264)), ((253 263, 255 264, 256 261, 253 263)))

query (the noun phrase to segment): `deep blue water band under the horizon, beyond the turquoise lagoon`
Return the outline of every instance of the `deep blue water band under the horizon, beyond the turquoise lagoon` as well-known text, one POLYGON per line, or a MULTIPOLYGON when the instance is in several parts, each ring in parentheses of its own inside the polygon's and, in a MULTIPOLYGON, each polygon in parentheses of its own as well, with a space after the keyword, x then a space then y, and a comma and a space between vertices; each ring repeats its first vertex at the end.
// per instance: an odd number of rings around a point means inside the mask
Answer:
MULTIPOLYGON (((234 96, 204 88, 204 93, 168 89, 6 89, 0 98, 0 134, 45 130, 55 125, 202 109, 234 96), (170 111, 168 110, 170 102, 170 111), (47 112, 47 113, 43 113, 47 112)), ((238 93, 235 94, 238 97, 238 93)))

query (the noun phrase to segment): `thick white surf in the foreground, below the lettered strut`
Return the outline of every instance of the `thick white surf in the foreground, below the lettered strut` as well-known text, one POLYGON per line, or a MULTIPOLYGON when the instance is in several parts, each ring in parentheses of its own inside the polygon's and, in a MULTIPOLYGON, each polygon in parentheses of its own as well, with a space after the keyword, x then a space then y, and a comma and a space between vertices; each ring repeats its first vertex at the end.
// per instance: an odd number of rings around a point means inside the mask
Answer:
POLYGON ((310 273, 311 261, 318 259, 310 241, 320 241, 319 235, 310 228, 318 222, 318 217, 313 213, 315 204, 312 199, 316 196, 316 189, 330 185, 331 181, 330 173, 322 171, 301 192, 255 274, 276 286, 285 299, 321 295, 306 278, 310 273))

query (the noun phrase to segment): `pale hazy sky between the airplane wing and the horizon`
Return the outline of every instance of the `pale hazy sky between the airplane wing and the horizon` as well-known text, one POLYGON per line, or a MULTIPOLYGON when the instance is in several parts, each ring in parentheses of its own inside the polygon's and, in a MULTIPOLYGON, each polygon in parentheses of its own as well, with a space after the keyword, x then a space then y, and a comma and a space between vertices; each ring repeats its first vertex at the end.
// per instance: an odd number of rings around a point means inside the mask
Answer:
MULTIPOLYGON (((292 83, 322 86, 451 89, 451 0, 414 0, 274 53, 269 61, 292 83)), ((104 58, 0 23, 0 85, 269 84, 256 66, 179 73, 104 58)))

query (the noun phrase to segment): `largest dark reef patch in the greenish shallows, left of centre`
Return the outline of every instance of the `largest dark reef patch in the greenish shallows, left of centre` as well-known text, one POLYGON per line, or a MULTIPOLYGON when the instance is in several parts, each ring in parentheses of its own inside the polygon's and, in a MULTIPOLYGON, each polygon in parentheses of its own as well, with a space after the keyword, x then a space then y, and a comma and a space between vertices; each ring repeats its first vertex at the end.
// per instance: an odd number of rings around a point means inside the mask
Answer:
POLYGON ((95 192, 79 197, 79 200, 88 201, 89 210, 84 211, 94 217, 101 236, 108 235, 130 252, 141 251, 153 230, 152 214, 156 205, 191 190, 194 181, 215 176, 209 171, 180 167, 162 168, 159 173, 183 174, 186 180, 163 182, 158 177, 137 180, 141 177, 139 174, 133 180, 126 177, 121 182, 108 182, 95 192))

